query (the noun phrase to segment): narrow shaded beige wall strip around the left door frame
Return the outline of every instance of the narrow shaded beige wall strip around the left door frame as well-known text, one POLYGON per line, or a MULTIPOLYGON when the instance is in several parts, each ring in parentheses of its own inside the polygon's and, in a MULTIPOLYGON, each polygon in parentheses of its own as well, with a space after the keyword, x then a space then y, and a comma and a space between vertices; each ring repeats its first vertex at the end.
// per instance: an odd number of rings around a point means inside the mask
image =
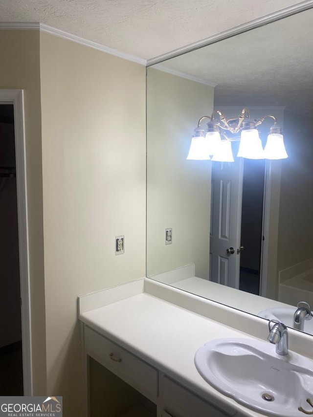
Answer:
POLYGON ((34 393, 45 395, 45 282, 40 107, 40 35, 0 31, 0 88, 23 88, 34 393))

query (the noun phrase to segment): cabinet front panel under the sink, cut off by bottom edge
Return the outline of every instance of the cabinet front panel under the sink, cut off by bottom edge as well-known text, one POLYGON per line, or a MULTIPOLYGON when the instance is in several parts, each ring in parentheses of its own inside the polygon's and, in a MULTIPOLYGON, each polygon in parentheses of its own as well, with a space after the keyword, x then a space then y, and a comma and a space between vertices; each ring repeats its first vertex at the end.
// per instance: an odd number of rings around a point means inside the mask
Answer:
POLYGON ((219 410, 167 376, 163 376, 160 386, 163 408, 170 416, 229 417, 235 414, 219 410))

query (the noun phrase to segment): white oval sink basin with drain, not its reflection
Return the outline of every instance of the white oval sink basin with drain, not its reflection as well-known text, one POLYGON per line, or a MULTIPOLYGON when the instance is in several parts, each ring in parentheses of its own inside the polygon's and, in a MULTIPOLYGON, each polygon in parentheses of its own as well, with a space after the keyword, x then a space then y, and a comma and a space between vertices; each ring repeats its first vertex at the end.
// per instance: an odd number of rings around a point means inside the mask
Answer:
POLYGON ((269 342, 216 339, 195 355, 201 376, 222 394, 268 416, 304 416, 312 411, 313 362, 290 351, 275 353, 269 342))

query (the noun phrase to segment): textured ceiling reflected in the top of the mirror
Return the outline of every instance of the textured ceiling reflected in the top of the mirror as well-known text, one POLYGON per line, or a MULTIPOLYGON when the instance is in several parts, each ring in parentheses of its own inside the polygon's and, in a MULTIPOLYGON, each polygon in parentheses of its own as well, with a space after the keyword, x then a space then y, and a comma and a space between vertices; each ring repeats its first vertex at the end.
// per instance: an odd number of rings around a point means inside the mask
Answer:
POLYGON ((161 65, 217 83, 214 105, 284 106, 313 114, 313 9, 161 65))

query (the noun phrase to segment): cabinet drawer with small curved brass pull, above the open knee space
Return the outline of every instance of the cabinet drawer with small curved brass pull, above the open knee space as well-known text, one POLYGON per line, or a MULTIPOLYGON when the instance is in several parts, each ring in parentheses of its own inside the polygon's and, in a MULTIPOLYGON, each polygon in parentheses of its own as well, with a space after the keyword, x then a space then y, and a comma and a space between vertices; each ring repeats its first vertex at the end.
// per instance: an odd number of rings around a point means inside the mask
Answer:
POLYGON ((84 340, 85 351, 89 356, 156 402, 158 372, 155 368, 87 326, 84 329, 84 340))

